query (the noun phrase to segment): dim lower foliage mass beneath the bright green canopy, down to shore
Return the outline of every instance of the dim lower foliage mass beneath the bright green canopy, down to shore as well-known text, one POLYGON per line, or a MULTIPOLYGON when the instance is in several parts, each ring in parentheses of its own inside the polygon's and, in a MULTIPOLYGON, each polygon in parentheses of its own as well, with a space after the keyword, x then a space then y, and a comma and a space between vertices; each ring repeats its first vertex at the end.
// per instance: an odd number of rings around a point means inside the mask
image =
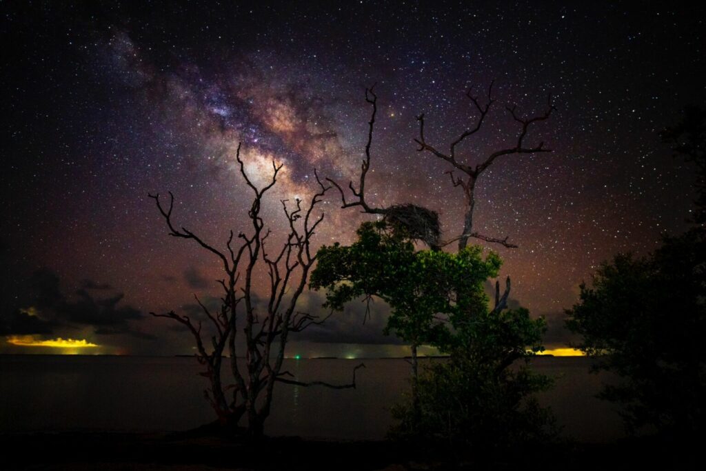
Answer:
POLYGON ((544 350, 544 319, 527 309, 496 313, 489 309, 455 319, 448 360, 424 369, 412 396, 393 408, 396 438, 463 443, 485 448, 548 439, 556 434, 548 408, 534 393, 551 386, 518 359, 544 350))

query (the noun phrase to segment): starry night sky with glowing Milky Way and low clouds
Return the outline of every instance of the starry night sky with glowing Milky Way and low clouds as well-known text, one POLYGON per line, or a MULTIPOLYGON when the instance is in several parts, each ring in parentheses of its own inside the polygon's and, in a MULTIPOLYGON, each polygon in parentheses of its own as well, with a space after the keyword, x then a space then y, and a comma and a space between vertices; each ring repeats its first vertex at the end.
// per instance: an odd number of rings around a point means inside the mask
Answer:
MULTIPOLYGON (((218 293, 220 266, 167 235, 148 193, 172 191, 179 227, 225 248, 229 229, 249 223, 251 193, 234 160, 241 142, 256 183, 273 159, 285 165, 263 208, 284 234, 280 199, 311 195, 314 168, 342 184, 357 179, 373 83, 367 199, 436 210, 446 238, 462 230, 462 194, 447 162, 417 152, 415 116, 425 113, 429 143, 448 148, 477 117, 466 90, 482 96, 494 80, 483 131, 458 151, 475 165, 516 142, 506 105, 531 116, 553 96, 557 111, 526 142, 554 152, 498 159, 478 181, 474 214, 477 230, 519 245, 489 248, 503 257, 516 302, 547 317, 548 347, 568 340, 562 311, 601 261, 647 254, 660 234, 686 228, 693 169, 657 133, 705 102, 702 12, 602 2, 86 3, 0 7, 0 352, 191 352, 188 333, 147 313, 192 312, 193 293, 218 293), (99 346, 14 345, 56 338, 99 346)), ((371 219, 340 209, 333 192, 321 208, 318 244, 349 243, 371 219)), ((301 302, 318 311, 322 295, 301 302)), ((289 354, 404 352, 381 334, 381 302, 365 325, 362 311, 354 303, 299 335, 289 354)))

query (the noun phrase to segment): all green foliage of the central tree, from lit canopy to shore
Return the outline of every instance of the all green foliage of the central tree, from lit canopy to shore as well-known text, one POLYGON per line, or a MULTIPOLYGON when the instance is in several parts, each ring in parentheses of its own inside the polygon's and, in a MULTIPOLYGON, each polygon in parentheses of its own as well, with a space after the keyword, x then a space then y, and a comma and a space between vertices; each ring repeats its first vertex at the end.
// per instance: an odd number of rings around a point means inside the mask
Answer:
MULTIPOLYGON (((510 366, 543 350, 543 319, 527 309, 505 309, 496 296, 489 307, 483 285, 498 275, 501 259, 479 246, 457 254, 415 251, 404 229, 365 222, 350 246, 325 246, 311 287, 327 289, 326 305, 376 296, 392 310, 385 333, 412 349, 412 394, 393 409, 395 436, 442 443, 513 443, 544 437, 549 411, 532 394, 549 387, 527 365, 510 366), (418 372, 417 347, 450 353, 445 362, 418 372)), ((508 281, 509 282, 509 281, 508 281)))

